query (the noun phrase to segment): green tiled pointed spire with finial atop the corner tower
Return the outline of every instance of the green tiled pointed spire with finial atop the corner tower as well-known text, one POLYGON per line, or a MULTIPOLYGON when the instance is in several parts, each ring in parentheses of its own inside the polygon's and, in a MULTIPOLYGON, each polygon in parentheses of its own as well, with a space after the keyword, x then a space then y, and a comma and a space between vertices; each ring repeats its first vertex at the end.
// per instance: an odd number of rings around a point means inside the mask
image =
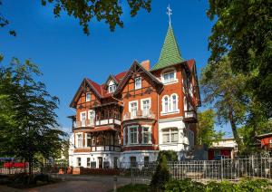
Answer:
MULTIPOLYGON (((168 9, 167 14, 169 15, 169 18, 170 18, 170 15, 172 14, 170 5, 167 7, 167 9, 168 9)), ((179 45, 177 43, 175 34, 171 27, 171 22, 169 21, 168 31, 167 31, 162 49, 160 51, 159 62, 157 62, 154 65, 154 67, 152 68, 152 71, 159 70, 161 68, 164 68, 173 64, 177 64, 183 61, 184 60, 181 58, 179 45)))

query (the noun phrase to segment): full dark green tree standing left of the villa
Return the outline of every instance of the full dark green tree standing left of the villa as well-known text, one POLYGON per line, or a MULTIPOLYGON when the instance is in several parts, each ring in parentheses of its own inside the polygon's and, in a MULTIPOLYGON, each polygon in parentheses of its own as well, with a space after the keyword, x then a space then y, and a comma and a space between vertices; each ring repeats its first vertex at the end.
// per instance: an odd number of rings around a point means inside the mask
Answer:
POLYGON ((35 155, 53 158, 66 136, 56 129, 58 98, 46 91, 43 82, 34 81, 37 75, 41 72, 30 61, 13 59, 8 67, 0 68, 0 103, 8 103, 0 110, 0 152, 27 161, 30 174, 35 155))

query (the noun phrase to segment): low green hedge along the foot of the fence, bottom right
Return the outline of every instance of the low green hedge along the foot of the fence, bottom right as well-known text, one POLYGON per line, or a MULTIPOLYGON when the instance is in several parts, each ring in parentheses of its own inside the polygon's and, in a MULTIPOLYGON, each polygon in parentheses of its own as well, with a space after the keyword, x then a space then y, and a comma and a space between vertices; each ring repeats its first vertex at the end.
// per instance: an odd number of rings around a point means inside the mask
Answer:
POLYGON ((164 186, 165 191, 190 191, 190 192, 208 192, 208 191, 226 191, 226 192, 251 192, 251 191, 272 191, 272 183, 268 179, 244 178, 238 183, 229 181, 209 182, 207 185, 192 181, 189 178, 181 180, 170 180, 164 186))

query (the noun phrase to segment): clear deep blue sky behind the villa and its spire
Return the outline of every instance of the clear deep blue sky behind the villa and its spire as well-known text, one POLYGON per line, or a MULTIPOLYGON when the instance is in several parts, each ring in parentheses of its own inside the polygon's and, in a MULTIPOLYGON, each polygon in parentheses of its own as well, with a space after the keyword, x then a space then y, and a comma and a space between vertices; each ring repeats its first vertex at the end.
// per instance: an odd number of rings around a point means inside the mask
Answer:
MULTIPOLYGON (((126 1, 123 1, 126 2, 126 1)), ((134 60, 158 61, 168 29, 166 7, 172 9, 172 27, 184 59, 195 59, 198 73, 209 58, 208 38, 212 22, 206 16, 207 0, 153 0, 151 13, 141 11, 131 18, 124 4, 124 27, 112 33, 106 24, 93 21, 91 34, 83 34, 78 21, 65 14, 54 18, 50 6, 36 0, 3 0, 1 12, 10 20, 17 36, 0 30, 0 53, 5 62, 13 56, 31 59, 44 73, 48 91, 60 98, 57 114, 61 127, 71 130, 66 117, 73 94, 84 77, 102 83, 109 73, 127 70, 134 60)), ((229 126, 225 130, 230 131, 229 126)))

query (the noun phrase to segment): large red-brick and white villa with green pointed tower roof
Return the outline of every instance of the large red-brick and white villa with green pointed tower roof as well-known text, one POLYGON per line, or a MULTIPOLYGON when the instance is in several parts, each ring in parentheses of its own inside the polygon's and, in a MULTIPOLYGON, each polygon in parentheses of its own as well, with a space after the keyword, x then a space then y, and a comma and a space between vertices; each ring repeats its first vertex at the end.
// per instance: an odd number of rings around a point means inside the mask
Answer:
POLYGON ((181 58, 170 24, 153 67, 150 61, 134 61, 102 84, 83 79, 70 104, 76 114, 69 117, 69 164, 113 168, 155 161, 168 149, 187 158, 194 149, 199 105, 196 62, 181 58))

